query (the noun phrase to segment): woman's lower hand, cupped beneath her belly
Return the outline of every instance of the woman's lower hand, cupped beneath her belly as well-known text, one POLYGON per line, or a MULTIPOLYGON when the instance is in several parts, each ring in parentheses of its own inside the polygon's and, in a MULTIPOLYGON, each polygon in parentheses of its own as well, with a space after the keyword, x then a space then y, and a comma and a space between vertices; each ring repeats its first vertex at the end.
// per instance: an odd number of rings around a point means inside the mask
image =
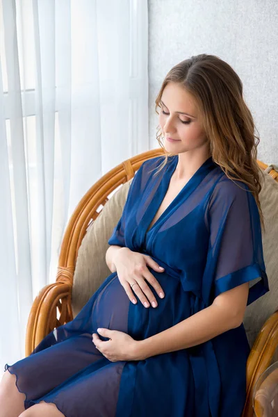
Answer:
POLYGON ((110 341, 101 341, 97 333, 92 334, 92 343, 109 361, 134 361, 136 360, 136 346, 138 341, 129 334, 118 330, 97 329, 97 332, 110 341))

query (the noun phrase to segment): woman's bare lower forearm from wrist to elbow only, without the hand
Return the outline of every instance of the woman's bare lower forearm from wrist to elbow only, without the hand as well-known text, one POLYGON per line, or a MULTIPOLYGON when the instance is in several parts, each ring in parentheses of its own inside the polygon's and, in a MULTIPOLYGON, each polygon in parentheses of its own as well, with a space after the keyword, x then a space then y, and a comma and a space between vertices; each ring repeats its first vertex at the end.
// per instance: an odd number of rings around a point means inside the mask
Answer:
POLYGON ((240 324, 238 316, 231 316, 222 306, 212 304, 177 325, 138 341, 135 360, 199 345, 240 324))

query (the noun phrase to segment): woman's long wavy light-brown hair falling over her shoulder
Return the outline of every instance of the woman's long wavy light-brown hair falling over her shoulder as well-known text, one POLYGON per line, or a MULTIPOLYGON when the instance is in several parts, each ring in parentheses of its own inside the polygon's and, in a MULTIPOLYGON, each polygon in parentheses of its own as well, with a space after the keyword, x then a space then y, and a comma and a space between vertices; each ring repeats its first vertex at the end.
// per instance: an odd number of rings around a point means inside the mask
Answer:
MULTIPOLYGON (((254 133, 256 127, 243 99, 243 83, 239 76, 218 56, 200 54, 183 60, 167 73, 156 97, 156 113, 157 108, 161 108, 161 96, 169 82, 179 84, 195 99, 213 161, 229 179, 247 184, 265 230, 259 202, 260 178, 263 176, 256 163, 260 139, 254 133)), ((165 158, 156 174, 165 166, 168 156, 174 155, 166 151, 159 130, 158 125, 156 139, 164 149, 165 158)))

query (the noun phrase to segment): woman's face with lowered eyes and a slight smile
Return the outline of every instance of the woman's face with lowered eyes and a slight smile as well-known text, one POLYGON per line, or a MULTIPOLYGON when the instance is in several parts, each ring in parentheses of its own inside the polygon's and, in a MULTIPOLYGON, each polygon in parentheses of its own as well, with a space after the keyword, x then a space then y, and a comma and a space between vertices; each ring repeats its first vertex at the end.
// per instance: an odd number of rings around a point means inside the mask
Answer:
POLYGON ((163 90, 159 124, 167 152, 180 154, 208 146, 194 99, 177 83, 170 82, 163 90), (170 142, 167 140, 168 137, 177 141, 170 142))

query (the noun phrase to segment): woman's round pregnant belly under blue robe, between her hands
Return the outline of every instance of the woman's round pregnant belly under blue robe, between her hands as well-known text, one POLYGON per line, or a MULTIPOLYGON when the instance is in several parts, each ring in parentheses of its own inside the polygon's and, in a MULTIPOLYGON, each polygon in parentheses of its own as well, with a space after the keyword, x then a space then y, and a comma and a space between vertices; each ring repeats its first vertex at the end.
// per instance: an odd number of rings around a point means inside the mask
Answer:
MULTIPOLYGON (((152 285, 146 281, 158 306, 146 308, 134 292, 137 304, 133 304, 120 284, 117 272, 113 272, 101 284, 92 305, 92 328, 119 330, 136 340, 142 340, 163 332, 190 316, 190 293, 183 291, 181 281, 166 272, 156 272, 148 268, 165 293, 165 297, 160 298, 152 285)), ((99 337, 108 340, 103 336, 99 337)))

